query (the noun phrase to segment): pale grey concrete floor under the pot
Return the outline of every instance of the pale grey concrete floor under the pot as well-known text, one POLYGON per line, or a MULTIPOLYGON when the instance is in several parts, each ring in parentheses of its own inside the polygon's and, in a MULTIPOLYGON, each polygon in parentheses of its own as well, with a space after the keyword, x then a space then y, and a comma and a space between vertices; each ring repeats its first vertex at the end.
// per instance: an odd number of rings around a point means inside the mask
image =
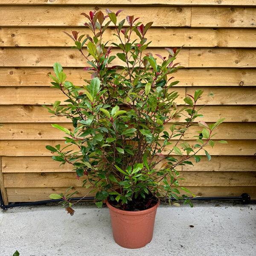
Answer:
POLYGON ((256 204, 195 202, 160 206, 151 243, 140 249, 117 245, 108 208, 61 206, 0 210, 0 256, 255 256, 256 204))

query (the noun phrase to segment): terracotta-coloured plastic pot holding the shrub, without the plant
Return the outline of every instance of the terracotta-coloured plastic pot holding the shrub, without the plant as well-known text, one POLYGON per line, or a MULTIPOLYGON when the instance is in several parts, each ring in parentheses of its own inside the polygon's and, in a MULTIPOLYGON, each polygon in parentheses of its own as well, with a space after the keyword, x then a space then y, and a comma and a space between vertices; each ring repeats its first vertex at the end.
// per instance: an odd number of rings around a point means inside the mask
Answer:
POLYGON ((122 247, 135 249, 148 244, 153 237, 154 220, 160 202, 143 211, 123 211, 113 207, 107 200, 111 216, 113 237, 122 247))

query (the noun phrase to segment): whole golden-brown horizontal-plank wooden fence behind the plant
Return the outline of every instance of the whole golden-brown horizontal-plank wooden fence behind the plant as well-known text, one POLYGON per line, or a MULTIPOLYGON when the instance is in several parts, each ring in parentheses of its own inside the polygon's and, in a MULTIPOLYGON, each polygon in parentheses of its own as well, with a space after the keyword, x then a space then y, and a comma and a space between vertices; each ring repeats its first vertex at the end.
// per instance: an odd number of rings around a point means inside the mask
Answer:
MULTIPOLYGON (((256 0, 0 0, 0 187, 5 203, 49 199, 70 186, 82 196, 87 189, 71 172, 58 167, 45 145, 64 143, 51 127, 72 124, 50 118, 41 107, 64 97, 50 88, 48 74, 58 61, 77 85, 88 77, 73 41, 62 31, 84 28, 81 12, 123 9, 120 17, 154 21, 148 32, 151 51, 180 47, 176 90, 202 88, 204 120, 225 117, 212 160, 180 167, 183 186, 201 196, 256 199, 256 0), (207 97, 209 92, 213 97, 207 97)), ((106 36, 112 39, 111 29, 106 36)), ((180 119, 180 122, 183 120, 180 119)), ((193 129, 191 133, 193 133, 193 129)), ((193 142, 192 142, 193 143, 193 142)))

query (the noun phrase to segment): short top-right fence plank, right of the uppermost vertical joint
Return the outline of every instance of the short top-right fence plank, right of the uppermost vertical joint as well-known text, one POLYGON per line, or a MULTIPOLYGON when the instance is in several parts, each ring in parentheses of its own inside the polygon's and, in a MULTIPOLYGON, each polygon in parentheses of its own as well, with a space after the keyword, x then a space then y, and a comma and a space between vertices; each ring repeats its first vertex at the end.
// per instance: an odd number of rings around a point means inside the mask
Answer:
POLYGON ((192 27, 255 27, 256 8, 192 7, 192 27))

